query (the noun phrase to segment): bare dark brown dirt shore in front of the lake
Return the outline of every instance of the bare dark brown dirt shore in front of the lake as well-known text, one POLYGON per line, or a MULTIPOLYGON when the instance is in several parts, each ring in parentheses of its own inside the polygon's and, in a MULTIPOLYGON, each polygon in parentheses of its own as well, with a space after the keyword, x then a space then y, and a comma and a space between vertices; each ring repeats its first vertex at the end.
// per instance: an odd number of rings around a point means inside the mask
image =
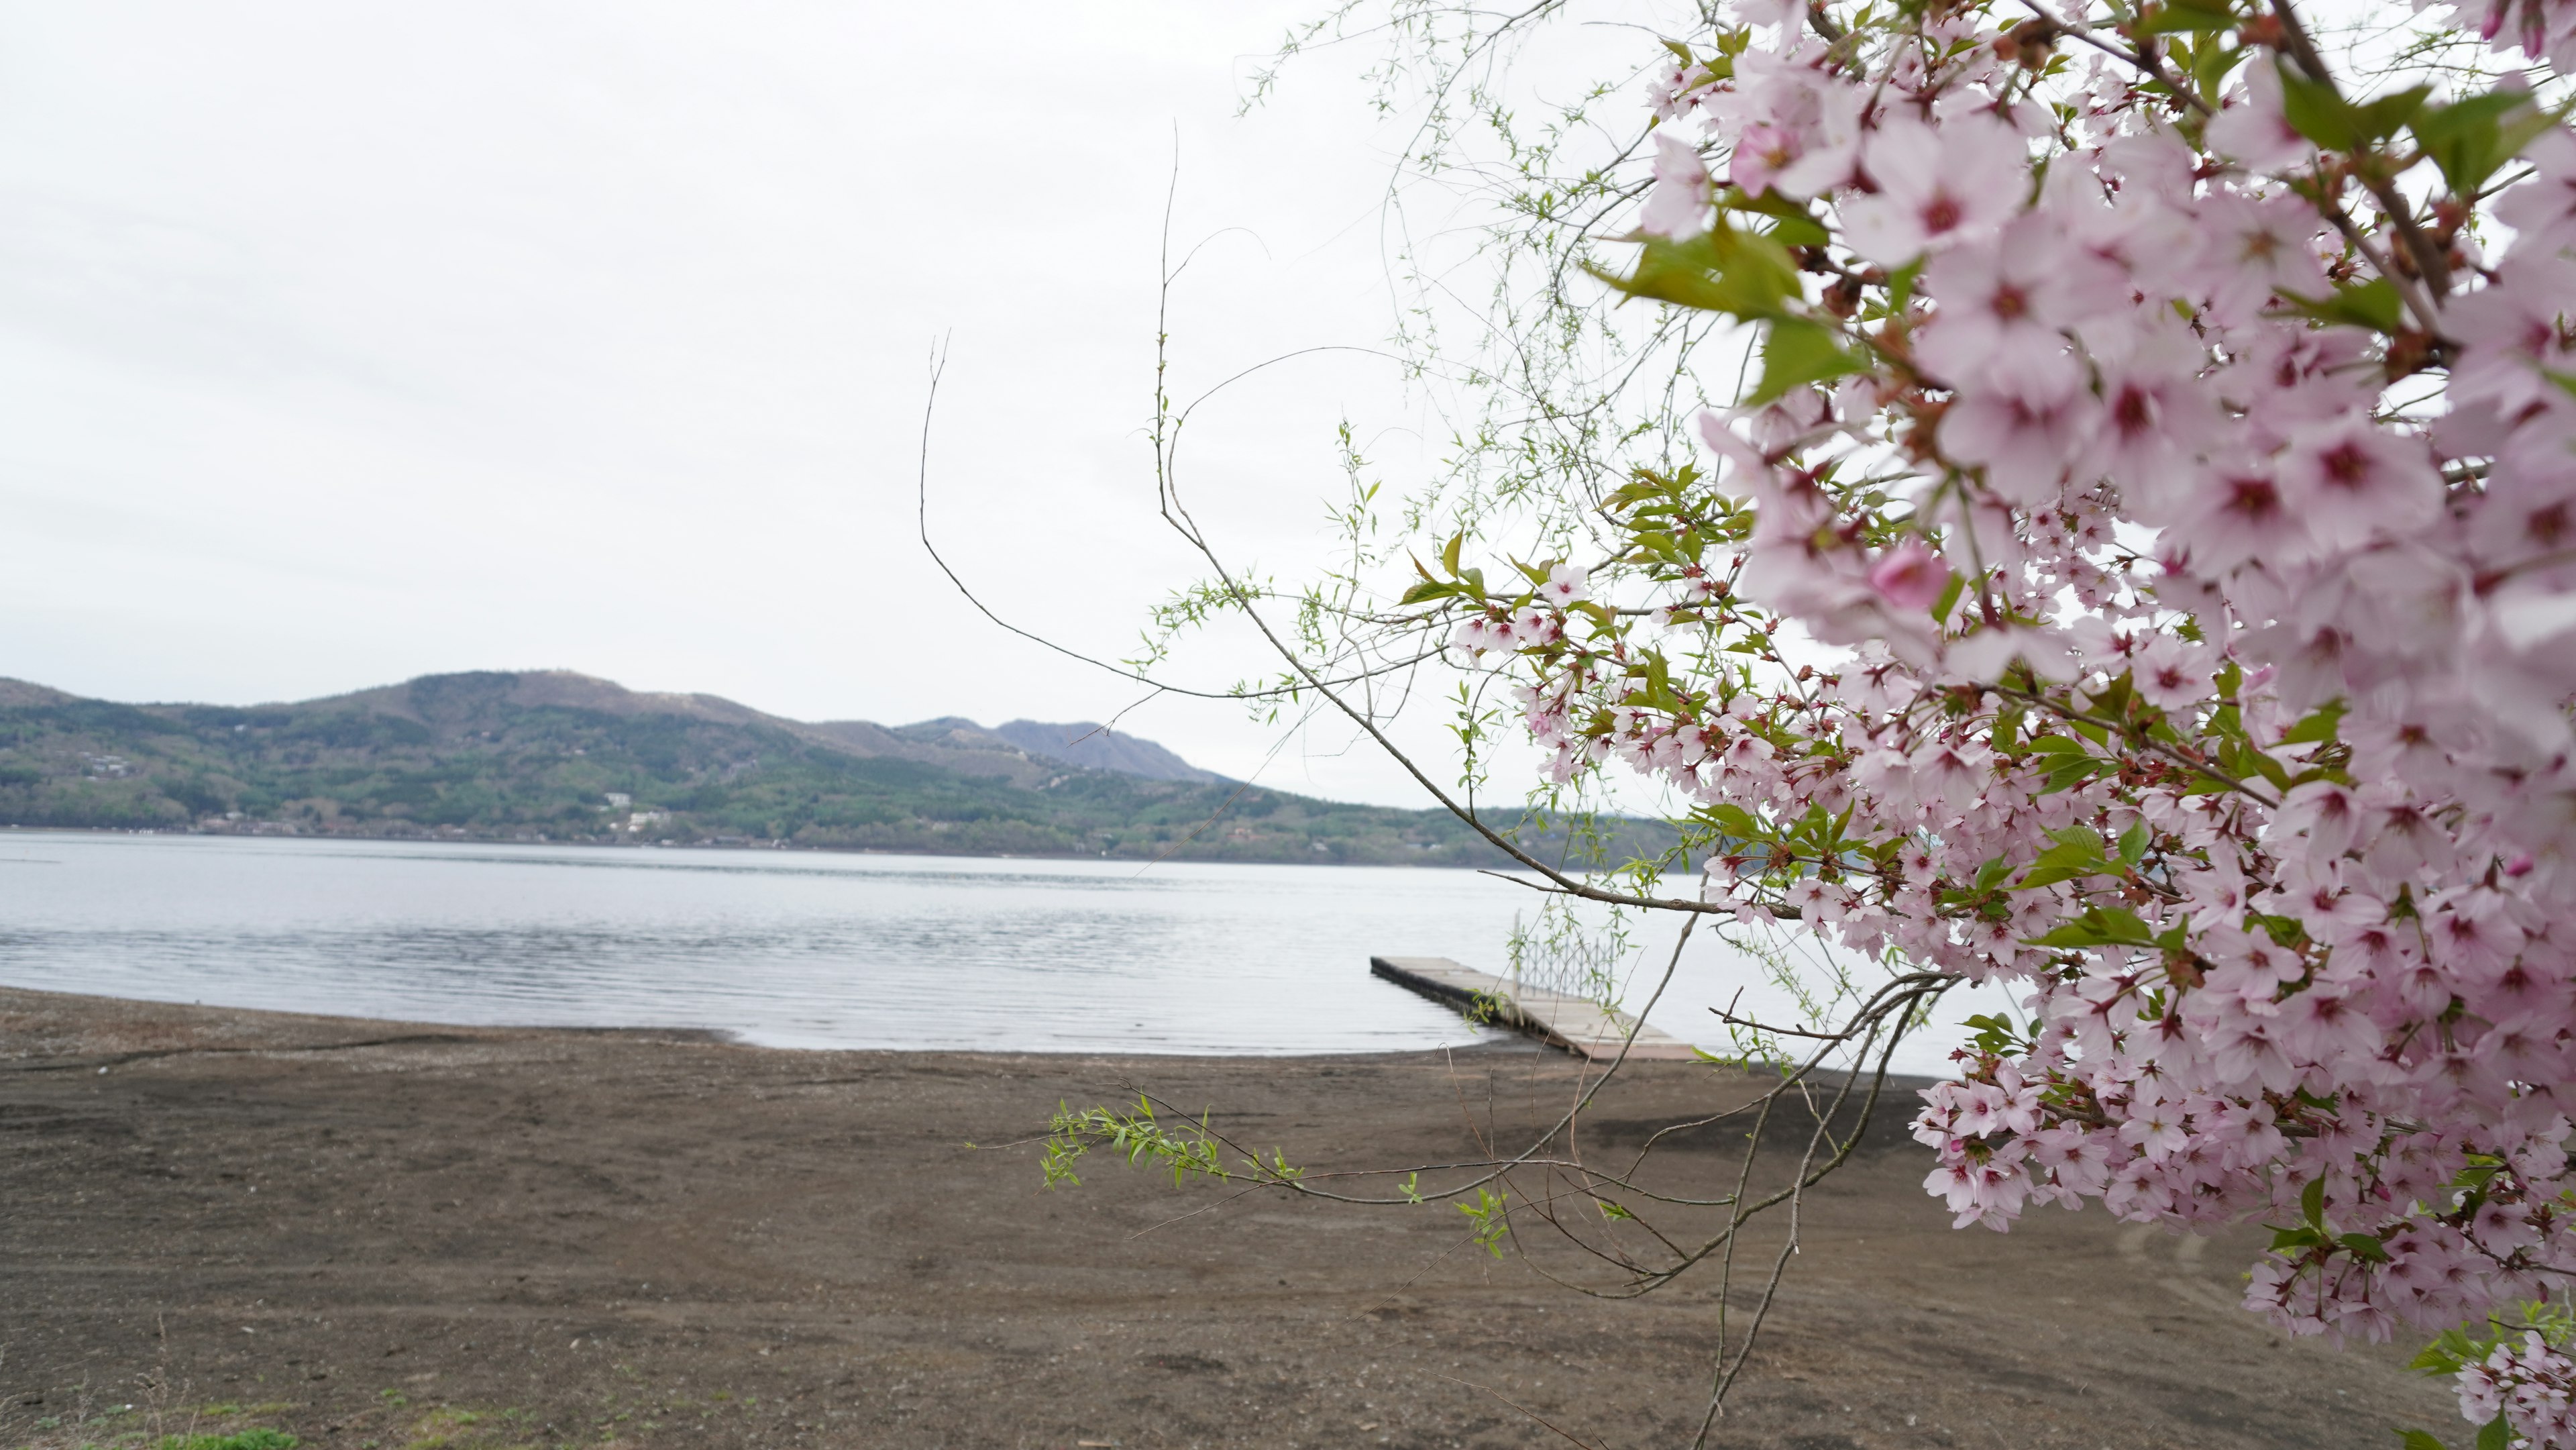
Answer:
MULTIPOLYGON (((1226 1200, 1097 1156, 1048 1192, 1025 1141, 1146 1087, 1314 1172, 1435 1164, 1553 1120, 1574 1074, 1522 1046, 791 1053, 0 989, 0 1447, 1687 1445, 1713 1275, 1597 1301, 1543 1275, 1613 1283, 1546 1226, 1494 1259, 1453 1208, 1226 1200)), ((1587 1144, 1744 1092, 1631 1066, 1587 1144)), ((1716 1190, 1739 1149, 1685 1133, 1659 1182, 1716 1190)), ((2401 1350, 2236 1311, 2251 1231, 1955 1234, 1924 1172, 1880 1131, 1806 1195, 1716 1445, 2460 1440, 2401 1350)))

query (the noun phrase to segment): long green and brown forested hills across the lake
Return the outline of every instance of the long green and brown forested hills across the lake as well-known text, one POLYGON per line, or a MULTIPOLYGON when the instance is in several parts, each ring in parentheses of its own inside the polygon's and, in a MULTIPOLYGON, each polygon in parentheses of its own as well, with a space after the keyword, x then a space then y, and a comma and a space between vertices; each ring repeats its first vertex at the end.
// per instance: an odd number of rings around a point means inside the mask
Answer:
POLYGON ((1236 786, 1146 739, 1069 739, 1084 729, 809 724, 567 670, 422 675, 283 706, 124 706, 0 680, 0 824, 1146 860, 1502 860, 1448 811, 1236 786), (1048 749, 1020 744, 1033 731, 1048 749))

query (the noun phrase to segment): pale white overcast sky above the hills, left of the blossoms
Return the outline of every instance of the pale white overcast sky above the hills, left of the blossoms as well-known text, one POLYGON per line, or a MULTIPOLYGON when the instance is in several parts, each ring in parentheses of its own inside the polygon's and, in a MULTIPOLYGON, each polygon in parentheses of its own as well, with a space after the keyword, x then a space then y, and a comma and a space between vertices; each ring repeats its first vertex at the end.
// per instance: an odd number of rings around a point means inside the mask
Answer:
MULTIPOLYGON (((1151 515, 1157 237, 1175 391, 1391 327, 1399 126, 1363 54, 1236 100, 1316 5, 0 5, 0 675, 121 701, 569 667, 799 719, 1100 719, 1190 577, 1151 515)), ((1211 410, 1229 549, 1316 556, 1329 355, 1211 410)), ((1414 410, 1414 412, 1409 412, 1414 410)), ((1182 659, 1226 683, 1229 646, 1182 659)), ((1249 773, 1229 706, 1128 719, 1249 773)), ((1262 780, 1406 801, 1337 737, 1262 780)))

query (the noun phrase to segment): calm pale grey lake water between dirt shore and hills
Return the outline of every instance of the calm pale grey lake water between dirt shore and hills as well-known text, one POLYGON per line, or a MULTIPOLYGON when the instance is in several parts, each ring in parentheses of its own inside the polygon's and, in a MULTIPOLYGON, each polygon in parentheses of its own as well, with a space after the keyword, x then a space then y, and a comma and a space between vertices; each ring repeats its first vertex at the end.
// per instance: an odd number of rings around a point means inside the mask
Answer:
MULTIPOLYGON (((1368 958, 1502 971, 1533 909, 1425 868, 0 832, 10 986, 791 1048, 1471 1043, 1368 958)), ((1721 1043, 1705 1007, 1749 981, 1695 945, 1651 1020, 1721 1043)))

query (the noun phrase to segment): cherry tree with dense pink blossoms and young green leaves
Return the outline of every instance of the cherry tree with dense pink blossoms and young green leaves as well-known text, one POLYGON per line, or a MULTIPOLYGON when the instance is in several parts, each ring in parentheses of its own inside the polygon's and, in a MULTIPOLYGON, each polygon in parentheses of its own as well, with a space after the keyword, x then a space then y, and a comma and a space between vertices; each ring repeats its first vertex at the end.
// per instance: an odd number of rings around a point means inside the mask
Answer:
MULTIPOLYGON (((1494 312, 1517 363, 1453 373, 1504 402, 1461 430, 1502 469, 1365 554, 1406 585, 1352 569, 1262 628, 1280 693, 1381 739, 1368 685, 1437 646, 1510 688, 1543 793, 1656 791, 1659 863, 1497 845, 1569 899, 1886 971, 1803 1038, 1880 1051, 2007 986, 1914 1120, 1960 1229, 2269 1223, 2249 1311, 2442 1334, 2481 1445, 2563 1447, 2576 3, 2365 21, 1677 26, 1579 106, 1633 142, 1510 196, 1548 301, 1494 312), (1597 332, 1530 343, 1561 317, 1597 332)), ((1494 106, 1435 80, 1450 118, 1494 106)), ((1172 479, 1167 513, 1206 546, 1172 479)), ((1208 559, 1167 623, 1262 621, 1280 595, 1208 559)))

